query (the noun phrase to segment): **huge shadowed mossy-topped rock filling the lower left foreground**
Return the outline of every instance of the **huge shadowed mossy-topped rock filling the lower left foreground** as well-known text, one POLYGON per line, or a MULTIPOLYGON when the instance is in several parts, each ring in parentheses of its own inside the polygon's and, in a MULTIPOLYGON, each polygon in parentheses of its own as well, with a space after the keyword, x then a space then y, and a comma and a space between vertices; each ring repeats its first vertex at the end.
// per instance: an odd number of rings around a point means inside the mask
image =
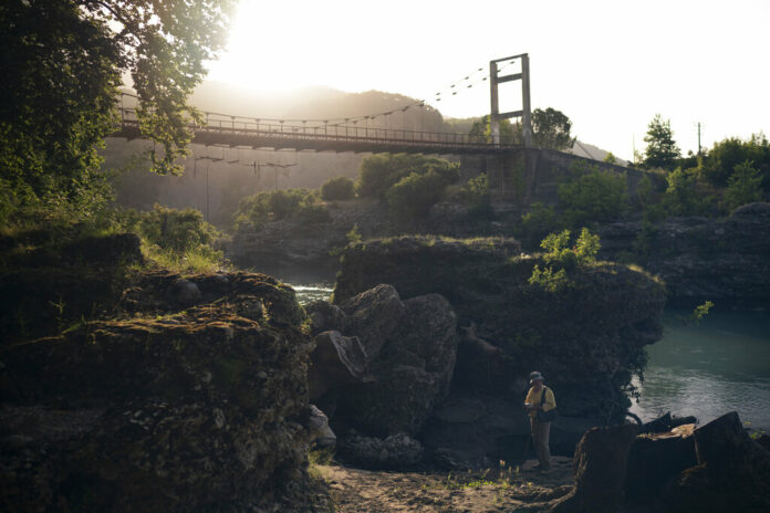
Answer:
POLYGON ((179 281, 139 276, 123 299, 136 316, 2 348, 0 510, 246 511, 299 493, 312 341, 291 290, 198 275, 178 311, 179 281))

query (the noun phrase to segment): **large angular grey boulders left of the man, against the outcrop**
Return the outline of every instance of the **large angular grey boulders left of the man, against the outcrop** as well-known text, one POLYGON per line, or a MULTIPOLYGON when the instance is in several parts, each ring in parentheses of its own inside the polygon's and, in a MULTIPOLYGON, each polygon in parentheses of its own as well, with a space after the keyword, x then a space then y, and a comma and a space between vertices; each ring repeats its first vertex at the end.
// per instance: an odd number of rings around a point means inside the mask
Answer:
POLYGON ((339 310, 315 302, 308 312, 313 331, 318 322, 355 337, 366 358, 363 383, 329 389, 319 401, 335 432, 352 428, 382 439, 417 433, 446 396, 455 367, 457 321, 449 303, 438 294, 402 301, 393 286, 377 285, 339 310))

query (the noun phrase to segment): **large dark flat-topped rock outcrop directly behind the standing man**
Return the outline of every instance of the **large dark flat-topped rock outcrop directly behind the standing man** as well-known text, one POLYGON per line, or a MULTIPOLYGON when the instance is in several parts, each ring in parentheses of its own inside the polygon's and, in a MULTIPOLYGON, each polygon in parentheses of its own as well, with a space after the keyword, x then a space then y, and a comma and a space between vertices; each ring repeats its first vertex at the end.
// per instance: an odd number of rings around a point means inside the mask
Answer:
POLYGON ((591 426, 623 421, 624 387, 643 347, 662 335, 663 284, 597 263, 574 270, 570 286, 551 293, 529 283, 535 264, 543 262, 506 239, 403 237, 343 253, 334 291, 341 307, 353 294, 389 283, 403 297, 441 294, 460 325, 474 326, 461 337, 451 390, 420 435, 427 448, 474 440, 479 443, 467 443, 462 459, 520 458, 529 433, 521 401, 532 369, 556 394, 556 452, 571 452, 591 426))

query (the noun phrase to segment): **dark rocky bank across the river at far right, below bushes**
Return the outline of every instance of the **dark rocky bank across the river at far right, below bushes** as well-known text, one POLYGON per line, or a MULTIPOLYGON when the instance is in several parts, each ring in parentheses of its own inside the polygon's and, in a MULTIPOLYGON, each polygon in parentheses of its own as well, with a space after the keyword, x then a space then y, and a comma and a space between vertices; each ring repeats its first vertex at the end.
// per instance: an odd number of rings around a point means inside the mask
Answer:
POLYGON ((602 228, 602 255, 617 260, 636 245, 641 263, 678 303, 770 308, 770 203, 745 205, 726 219, 670 218, 643 230, 642 221, 602 228))

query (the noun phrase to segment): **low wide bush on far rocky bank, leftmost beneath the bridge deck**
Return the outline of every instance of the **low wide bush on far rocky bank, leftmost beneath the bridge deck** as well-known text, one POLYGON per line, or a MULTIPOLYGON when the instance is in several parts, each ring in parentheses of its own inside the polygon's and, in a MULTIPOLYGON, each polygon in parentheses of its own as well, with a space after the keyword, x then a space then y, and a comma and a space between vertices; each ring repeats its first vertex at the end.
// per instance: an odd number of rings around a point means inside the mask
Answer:
POLYGON ((331 219, 318 191, 285 189, 258 192, 240 200, 236 211, 236 229, 259 228, 268 221, 298 219, 303 222, 326 222, 331 219))

